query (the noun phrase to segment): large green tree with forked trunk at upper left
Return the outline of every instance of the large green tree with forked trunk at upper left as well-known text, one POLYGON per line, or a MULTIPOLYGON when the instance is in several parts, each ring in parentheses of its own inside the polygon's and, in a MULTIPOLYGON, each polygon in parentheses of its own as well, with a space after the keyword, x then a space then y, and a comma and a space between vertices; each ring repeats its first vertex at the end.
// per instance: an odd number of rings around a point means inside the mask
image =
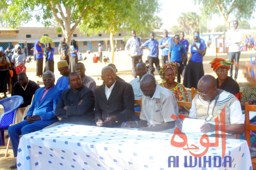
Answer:
POLYGON ((13 28, 28 23, 32 18, 49 27, 53 19, 56 19, 67 43, 70 43, 71 35, 79 23, 99 13, 98 8, 102 6, 100 0, 0 0, 0 5, 6 9, 5 21, 13 28))

